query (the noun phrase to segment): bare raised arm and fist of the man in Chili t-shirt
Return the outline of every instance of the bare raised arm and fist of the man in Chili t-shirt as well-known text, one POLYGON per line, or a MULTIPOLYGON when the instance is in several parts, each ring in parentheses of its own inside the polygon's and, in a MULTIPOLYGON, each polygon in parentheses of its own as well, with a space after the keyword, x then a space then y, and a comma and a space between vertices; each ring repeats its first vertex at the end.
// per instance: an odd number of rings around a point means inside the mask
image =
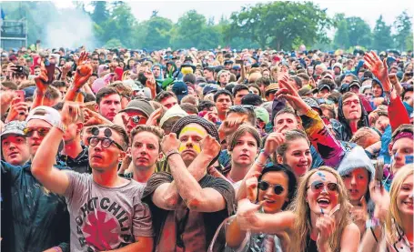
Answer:
MULTIPOLYGON (((78 105, 66 103, 61 112, 62 124, 67 126, 76 121, 77 116, 80 115, 79 113, 78 105)), ((33 176, 47 189, 60 195, 63 195, 67 186, 69 186, 69 178, 66 172, 54 167, 64 130, 62 126, 52 127, 37 149, 32 163, 33 176)))

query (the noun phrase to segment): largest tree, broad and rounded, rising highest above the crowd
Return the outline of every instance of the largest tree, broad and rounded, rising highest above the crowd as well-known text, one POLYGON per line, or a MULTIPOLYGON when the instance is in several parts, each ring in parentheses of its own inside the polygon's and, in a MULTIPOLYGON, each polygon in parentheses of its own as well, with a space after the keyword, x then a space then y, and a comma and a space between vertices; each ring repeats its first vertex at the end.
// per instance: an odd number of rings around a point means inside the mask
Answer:
POLYGON ((242 7, 230 16, 228 37, 244 37, 261 47, 289 50, 300 39, 307 45, 325 40, 331 20, 310 2, 273 2, 242 7))

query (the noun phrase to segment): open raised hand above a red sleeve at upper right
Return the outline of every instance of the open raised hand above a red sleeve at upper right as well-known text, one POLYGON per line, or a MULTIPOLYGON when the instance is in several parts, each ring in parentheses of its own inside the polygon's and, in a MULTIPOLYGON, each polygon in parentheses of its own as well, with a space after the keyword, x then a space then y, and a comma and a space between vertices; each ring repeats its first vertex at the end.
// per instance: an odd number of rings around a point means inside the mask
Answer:
POLYGON ((375 52, 369 52, 364 55, 364 65, 369 68, 369 71, 376 76, 382 84, 384 91, 391 90, 391 82, 389 80, 389 67, 387 66, 387 59, 383 61, 379 59, 379 56, 375 52))

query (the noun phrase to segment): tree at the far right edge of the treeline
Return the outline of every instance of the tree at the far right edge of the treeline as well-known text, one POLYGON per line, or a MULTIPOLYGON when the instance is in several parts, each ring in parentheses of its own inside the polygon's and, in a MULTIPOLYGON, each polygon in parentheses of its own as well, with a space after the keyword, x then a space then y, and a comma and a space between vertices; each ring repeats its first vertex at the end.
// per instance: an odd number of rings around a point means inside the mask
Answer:
MULTIPOLYGON (((394 35, 396 46, 399 50, 404 51, 407 48, 407 41, 411 35, 412 41, 412 23, 411 18, 407 11, 403 11, 399 16, 397 16, 394 23, 397 34, 394 35)), ((412 45, 411 45, 412 48, 412 45)))

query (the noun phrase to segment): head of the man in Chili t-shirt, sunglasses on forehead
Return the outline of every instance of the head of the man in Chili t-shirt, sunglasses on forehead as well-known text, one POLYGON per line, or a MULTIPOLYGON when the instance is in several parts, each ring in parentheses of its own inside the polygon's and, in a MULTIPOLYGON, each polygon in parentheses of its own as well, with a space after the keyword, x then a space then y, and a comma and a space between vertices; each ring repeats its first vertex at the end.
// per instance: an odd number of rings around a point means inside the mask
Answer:
MULTIPOLYGON (((109 128, 99 128, 99 134, 97 136, 99 138, 107 137, 115 141, 119 146, 124 146, 122 137, 116 131, 109 129, 111 134, 110 136, 106 136, 105 132, 107 132, 107 129, 109 128)), ((91 141, 88 143, 89 165, 94 170, 99 173, 106 172, 108 169, 117 167, 117 164, 122 161, 126 153, 124 150, 119 149, 115 143, 111 143, 107 147, 105 145, 103 146, 102 140, 96 146, 93 146, 91 141)))

